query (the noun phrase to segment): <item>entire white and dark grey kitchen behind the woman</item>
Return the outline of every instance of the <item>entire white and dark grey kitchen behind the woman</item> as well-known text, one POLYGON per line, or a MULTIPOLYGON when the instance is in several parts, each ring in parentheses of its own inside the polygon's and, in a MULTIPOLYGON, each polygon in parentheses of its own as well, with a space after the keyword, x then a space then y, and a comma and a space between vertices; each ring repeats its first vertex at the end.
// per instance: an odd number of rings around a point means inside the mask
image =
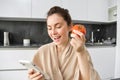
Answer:
POLYGON ((101 79, 120 78, 120 0, 0 0, 0 80, 27 80, 18 60, 32 60, 38 47, 51 42, 45 19, 55 5, 67 8, 74 24, 85 25, 86 47, 101 79), (9 32, 8 46, 3 32, 9 32), (26 38, 31 45, 23 46, 26 38))

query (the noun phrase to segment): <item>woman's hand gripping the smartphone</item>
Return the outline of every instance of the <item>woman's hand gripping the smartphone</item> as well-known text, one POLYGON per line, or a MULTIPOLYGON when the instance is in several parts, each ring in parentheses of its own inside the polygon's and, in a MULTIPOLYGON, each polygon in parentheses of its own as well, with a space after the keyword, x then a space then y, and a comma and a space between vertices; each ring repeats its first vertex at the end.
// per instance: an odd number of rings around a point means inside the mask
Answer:
POLYGON ((33 69, 28 70, 28 78, 30 80, 43 80, 43 75, 35 72, 33 69))

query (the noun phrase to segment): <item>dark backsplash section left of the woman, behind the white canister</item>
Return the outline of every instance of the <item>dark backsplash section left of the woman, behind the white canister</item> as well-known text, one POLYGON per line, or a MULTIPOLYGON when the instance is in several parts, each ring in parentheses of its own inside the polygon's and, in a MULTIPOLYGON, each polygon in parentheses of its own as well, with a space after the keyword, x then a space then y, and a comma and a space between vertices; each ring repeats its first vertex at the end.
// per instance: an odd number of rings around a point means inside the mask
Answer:
POLYGON ((31 44, 51 42, 45 22, 34 21, 0 21, 0 43, 3 44, 3 32, 9 32, 11 45, 20 45, 23 39, 30 39, 31 44))

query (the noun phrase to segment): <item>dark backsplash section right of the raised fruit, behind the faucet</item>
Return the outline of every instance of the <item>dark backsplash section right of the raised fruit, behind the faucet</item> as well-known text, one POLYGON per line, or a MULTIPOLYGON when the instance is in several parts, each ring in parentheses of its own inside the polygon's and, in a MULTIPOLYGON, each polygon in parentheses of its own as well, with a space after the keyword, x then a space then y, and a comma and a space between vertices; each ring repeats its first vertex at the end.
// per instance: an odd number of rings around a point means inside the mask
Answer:
POLYGON ((93 32, 94 42, 102 42, 110 39, 116 39, 116 22, 106 24, 83 24, 87 29, 87 42, 91 42, 93 32))

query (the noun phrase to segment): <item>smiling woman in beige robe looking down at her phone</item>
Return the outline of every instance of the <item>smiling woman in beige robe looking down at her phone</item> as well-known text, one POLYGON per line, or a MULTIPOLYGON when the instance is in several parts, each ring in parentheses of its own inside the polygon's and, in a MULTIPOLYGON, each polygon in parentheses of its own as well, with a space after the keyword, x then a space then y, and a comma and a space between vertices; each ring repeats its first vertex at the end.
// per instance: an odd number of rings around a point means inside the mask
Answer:
MULTIPOLYGON (((70 39, 71 26, 68 10, 52 7, 47 15, 47 30, 53 42, 38 49, 33 63, 48 74, 50 80, 100 80, 86 50, 84 34, 74 30, 70 39)), ((31 80, 45 79, 33 69, 28 75, 31 80)))

